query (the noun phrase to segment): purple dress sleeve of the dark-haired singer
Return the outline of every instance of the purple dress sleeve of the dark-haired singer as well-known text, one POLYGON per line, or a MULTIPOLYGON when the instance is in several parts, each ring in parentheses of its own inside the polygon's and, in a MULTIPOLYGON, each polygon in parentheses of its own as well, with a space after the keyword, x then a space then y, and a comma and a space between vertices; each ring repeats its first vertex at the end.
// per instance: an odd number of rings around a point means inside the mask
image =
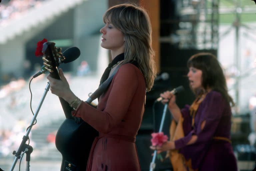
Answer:
POLYGON ((210 92, 205 98, 204 104, 202 104, 202 115, 199 119, 197 129, 191 130, 184 138, 176 140, 175 148, 179 149, 186 146, 192 135, 197 135, 197 141, 195 143, 210 141, 216 132, 225 104, 225 100, 220 93, 210 92), (201 123, 203 121, 206 121, 206 123, 201 130, 201 123))

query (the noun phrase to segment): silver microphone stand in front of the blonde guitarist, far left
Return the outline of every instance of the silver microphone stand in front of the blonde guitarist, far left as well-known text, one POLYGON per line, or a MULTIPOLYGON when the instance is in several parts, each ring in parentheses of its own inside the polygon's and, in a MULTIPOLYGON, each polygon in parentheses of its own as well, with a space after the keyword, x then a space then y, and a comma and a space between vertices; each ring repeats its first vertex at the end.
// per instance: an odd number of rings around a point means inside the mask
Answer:
POLYGON ((20 147, 19 147, 18 151, 17 151, 17 152, 16 152, 16 151, 13 151, 13 155, 15 155, 15 159, 14 159, 14 161, 13 161, 13 164, 12 164, 12 167, 11 167, 10 171, 13 171, 13 169, 14 169, 14 167, 15 167, 17 161, 18 161, 18 159, 19 159, 19 158, 21 157, 21 155, 23 155, 24 153, 26 153, 26 161, 27 161, 27 164, 26 164, 26 171, 29 171, 29 167, 30 167, 30 165, 29 165, 30 154, 32 153, 33 148, 32 148, 30 145, 26 144, 26 142, 27 142, 27 140, 28 140, 28 135, 29 135, 29 133, 30 133, 30 131, 31 131, 31 128, 32 128, 32 126, 33 126, 33 124, 34 124, 34 122, 35 122, 35 120, 36 120, 37 114, 38 114, 38 112, 39 112, 39 110, 40 110, 40 108, 41 108, 41 106, 42 106, 42 104, 43 104, 43 101, 44 101, 45 96, 46 96, 47 92, 49 91, 49 89, 50 89, 50 83, 48 82, 48 84, 47 84, 46 87, 45 87, 45 91, 44 91, 44 93, 43 93, 43 96, 42 96, 42 98, 41 98, 41 100, 40 100, 40 102, 39 102, 39 105, 37 106, 36 112, 35 112, 35 114, 34 114, 32 120, 31 120, 31 122, 30 122, 30 125, 29 125, 28 129, 27 129, 27 132, 26 132, 26 134, 25 134, 25 135, 23 136, 23 138, 22 138, 22 142, 21 142, 21 144, 20 144, 20 147), (23 152, 23 153, 21 154, 21 152, 23 152))

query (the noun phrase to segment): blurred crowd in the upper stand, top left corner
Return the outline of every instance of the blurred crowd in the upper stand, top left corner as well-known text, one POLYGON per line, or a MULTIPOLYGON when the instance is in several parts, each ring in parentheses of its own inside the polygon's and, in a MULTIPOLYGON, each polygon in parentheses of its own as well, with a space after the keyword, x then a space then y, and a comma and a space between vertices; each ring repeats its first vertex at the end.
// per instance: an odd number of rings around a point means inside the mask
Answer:
POLYGON ((41 5, 46 0, 7 0, 1 3, 0 7, 0 25, 3 25, 8 19, 18 18, 29 8, 41 5))

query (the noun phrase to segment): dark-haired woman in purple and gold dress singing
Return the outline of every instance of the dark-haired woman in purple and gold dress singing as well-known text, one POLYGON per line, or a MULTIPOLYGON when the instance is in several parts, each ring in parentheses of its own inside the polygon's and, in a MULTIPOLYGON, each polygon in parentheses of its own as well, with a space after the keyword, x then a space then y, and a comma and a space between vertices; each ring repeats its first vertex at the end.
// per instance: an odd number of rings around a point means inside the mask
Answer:
POLYGON ((150 148, 158 153, 168 151, 174 170, 237 171, 230 141, 230 105, 234 102, 228 94, 222 68, 210 53, 193 55, 187 66, 196 99, 192 105, 180 109, 170 91, 160 94, 173 116, 170 141, 150 148))

